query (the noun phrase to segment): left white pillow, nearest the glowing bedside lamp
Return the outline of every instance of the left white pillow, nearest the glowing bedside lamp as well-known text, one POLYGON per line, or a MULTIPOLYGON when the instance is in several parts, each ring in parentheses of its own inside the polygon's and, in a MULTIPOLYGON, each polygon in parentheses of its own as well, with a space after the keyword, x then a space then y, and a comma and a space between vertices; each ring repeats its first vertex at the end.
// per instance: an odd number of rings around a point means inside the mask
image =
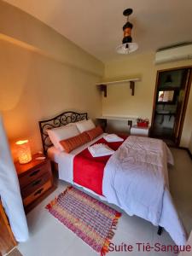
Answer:
POLYGON ((65 140, 69 137, 74 137, 80 134, 75 124, 68 124, 58 128, 48 129, 47 133, 51 143, 54 144, 55 148, 63 151, 63 147, 60 143, 61 140, 65 140))

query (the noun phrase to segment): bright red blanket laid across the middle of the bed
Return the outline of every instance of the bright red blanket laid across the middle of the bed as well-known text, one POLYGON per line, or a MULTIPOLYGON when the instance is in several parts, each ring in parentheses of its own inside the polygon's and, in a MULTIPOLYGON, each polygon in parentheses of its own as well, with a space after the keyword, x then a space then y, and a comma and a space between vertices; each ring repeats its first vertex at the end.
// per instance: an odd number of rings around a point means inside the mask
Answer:
MULTIPOLYGON (((125 136, 120 136, 126 138, 125 136)), ((109 148, 117 150, 123 142, 108 143, 103 138, 96 143, 105 143, 109 148)), ((94 144, 96 144, 94 143, 94 144)), ((93 144, 93 145, 94 145, 93 144)), ((98 195, 102 195, 102 177, 104 168, 111 155, 92 157, 88 148, 77 154, 73 160, 73 182, 91 189, 98 195)))

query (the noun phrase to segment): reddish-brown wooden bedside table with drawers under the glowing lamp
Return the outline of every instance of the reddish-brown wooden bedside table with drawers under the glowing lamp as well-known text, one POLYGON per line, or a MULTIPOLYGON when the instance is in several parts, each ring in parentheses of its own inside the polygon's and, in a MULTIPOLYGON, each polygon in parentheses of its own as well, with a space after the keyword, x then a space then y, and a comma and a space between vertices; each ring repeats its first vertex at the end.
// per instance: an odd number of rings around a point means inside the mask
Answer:
POLYGON ((15 163, 15 169, 20 182, 20 194, 26 212, 38 202, 44 193, 53 190, 53 176, 51 172, 50 160, 36 160, 42 156, 34 154, 32 160, 27 164, 15 163))

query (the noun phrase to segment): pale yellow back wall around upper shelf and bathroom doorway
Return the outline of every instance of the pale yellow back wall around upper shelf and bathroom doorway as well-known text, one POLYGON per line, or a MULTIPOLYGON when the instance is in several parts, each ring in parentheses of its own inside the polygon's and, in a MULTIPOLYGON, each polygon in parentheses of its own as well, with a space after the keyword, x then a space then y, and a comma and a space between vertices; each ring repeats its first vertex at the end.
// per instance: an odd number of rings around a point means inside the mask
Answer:
MULTIPOLYGON (((154 89, 157 70, 192 66, 192 60, 177 61, 154 65, 154 53, 143 55, 125 55, 121 61, 111 61, 105 66, 105 81, 113 79, 140 78, 136 82, 135 96, 131 96, 129 83, 108 86, 108 97, 102 97, 103 115, 136 115, 151 119, 154 101, 154 89)), ((189 147, 192 127, 192 90, 183 125, 181 146, 189 147)))

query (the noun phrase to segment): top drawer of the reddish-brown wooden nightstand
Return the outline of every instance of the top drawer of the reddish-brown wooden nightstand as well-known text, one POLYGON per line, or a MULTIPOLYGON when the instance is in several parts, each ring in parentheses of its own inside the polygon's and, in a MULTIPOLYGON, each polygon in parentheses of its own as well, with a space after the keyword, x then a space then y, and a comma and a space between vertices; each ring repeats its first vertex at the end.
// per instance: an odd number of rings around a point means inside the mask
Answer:
POLYGON ((25 175, 19 178, 20 180, 20 188, 26 187, 27 184, 32 183, 33 181, 36 181, 38 177, 41 177, 44 175, 44 173, 47 173, 49 170, 49 164, 43 164, 40 166, 37 166, 36 168, 32 168, 29 172, 26 172, 25 175))

